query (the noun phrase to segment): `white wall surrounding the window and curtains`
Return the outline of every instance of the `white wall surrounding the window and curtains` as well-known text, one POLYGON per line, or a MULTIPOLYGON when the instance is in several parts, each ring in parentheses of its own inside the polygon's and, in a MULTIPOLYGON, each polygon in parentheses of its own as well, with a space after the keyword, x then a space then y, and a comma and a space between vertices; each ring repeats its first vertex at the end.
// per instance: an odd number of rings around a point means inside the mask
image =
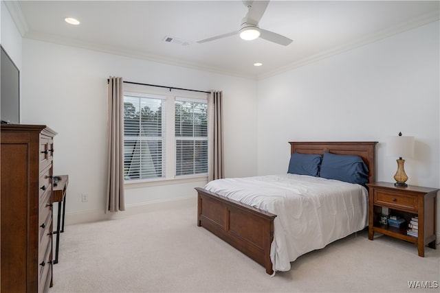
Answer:
MULTIPOLYGON (((93 220, 104 212, 109 75, 133 82, 223 91, 225 173, 256 175, 255 80, 30 39, 23 39, 22 72, 21 122, 45 124, 58 132, 54 174, 69 174, 66 221, 93 220), (89 202, 81 202, 81 194, 88 194, 89 202)), ((128 185, 127 209, 188 197, 195 203, 194 187, 205 183, 206 179, 148 187, 128 185)))

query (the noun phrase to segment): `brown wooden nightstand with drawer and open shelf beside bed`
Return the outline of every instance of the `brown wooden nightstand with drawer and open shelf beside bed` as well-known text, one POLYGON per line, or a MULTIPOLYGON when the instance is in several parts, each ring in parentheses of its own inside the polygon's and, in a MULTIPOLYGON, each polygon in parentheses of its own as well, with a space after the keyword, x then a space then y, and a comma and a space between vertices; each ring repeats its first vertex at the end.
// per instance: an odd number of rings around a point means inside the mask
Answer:
POLYGON ((435 209, 437 191, 440 189, 408 185, 395 187, 393 183, 368 183, 369 198, 369 239, 374 233, 382 233, 397 239, 417 244, 419 256, 425 256, 425 246, 435 247, 435 209), (405 219, 399 228, 381 224, 382 207, 387 207, 389 215, 405 219), (418 218, 416 236, 408 235, 408 223, 418 218))

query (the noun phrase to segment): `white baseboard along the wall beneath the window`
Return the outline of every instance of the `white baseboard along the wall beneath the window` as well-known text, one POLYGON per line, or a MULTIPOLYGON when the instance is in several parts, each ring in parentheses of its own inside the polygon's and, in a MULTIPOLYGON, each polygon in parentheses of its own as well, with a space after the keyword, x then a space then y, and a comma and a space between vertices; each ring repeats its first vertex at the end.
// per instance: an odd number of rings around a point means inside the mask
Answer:
POLYGON ((97 222, 102 220, 110 220, 123 218, 127 215, 135 215, 137 213, 148 213, 151 211, 159 211, 163 209, 176 209, 181 207, 196 207, 197 196, 189 196, 186 198, 177 198, 173 200, 159 200, 155 202, 144 202, 141 204, 127 204, 125 211, 116 213, 104 213, 102 210, 83 211, 80 213, 66 213, 65 225, 82 224, 89 222, 97 222))

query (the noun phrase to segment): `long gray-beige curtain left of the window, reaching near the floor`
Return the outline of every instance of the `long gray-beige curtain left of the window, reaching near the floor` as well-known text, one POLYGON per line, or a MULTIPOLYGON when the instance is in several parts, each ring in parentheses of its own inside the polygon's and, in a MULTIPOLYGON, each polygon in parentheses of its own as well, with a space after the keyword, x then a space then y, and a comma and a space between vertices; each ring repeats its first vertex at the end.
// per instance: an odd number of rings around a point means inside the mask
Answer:
POLYGON ((109 78, 109 147, 105 211, 124 211, 124 93, 122 78, 109 78))

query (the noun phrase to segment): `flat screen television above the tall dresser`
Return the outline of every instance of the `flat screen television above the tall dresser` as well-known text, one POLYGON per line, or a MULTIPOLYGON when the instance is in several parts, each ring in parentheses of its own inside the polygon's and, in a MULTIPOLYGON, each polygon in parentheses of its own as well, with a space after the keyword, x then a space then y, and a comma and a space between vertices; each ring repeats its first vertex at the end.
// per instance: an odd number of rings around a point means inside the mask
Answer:
POLYGON ((20 71, 1 47, 0 119, 1 123, 20 124, 20 71))

